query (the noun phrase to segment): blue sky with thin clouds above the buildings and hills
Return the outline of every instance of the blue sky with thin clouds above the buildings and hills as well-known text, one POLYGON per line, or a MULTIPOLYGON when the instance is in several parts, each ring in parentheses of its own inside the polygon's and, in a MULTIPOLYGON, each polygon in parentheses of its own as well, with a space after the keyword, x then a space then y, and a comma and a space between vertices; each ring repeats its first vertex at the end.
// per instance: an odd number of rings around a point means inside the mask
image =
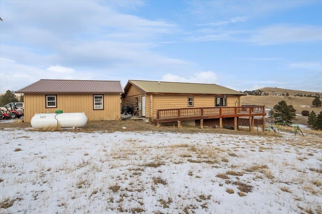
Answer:
POLYGON ((0 1, 0 92, 39 79, 322 91, 322 1, 0 1))

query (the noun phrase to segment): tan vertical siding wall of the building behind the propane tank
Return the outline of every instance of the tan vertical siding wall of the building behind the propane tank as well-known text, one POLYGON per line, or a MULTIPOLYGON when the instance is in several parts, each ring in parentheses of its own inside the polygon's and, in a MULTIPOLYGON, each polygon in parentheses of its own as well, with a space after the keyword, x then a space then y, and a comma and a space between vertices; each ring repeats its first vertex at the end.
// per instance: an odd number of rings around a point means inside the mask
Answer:
POLYGON ((25 122, 35 113, 55 113, 56 110, 84 112, 88 120, 116 120, 121 116, 120 94, 104 94, 104 110, 93 110, 93 94, 57 94, 57 108, 45 108, 45 94, 24 94, 25 122))

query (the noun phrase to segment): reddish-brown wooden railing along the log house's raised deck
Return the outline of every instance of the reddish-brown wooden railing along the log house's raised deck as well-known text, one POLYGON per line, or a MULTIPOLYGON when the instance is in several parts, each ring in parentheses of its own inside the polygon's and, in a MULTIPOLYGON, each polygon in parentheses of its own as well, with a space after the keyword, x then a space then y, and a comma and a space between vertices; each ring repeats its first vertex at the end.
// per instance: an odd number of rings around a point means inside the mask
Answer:
POLYGON ((189 108, 189 109, 167 109, 156 110, 156 119, 162 118, 182 118, 191 116, 210 115, 237 115, 265 113, 265 106, 236 106, 236 107, 210 107, 210 108, 189 108))

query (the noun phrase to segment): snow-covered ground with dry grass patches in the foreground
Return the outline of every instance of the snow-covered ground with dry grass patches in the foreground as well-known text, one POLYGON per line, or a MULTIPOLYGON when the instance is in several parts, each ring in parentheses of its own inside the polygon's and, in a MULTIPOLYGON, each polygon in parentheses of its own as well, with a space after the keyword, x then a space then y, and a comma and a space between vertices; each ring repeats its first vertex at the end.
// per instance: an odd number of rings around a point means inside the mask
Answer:
POLYGON ((0 213, 321 213, 321 135, 271 134, 3 129, 0 213))

